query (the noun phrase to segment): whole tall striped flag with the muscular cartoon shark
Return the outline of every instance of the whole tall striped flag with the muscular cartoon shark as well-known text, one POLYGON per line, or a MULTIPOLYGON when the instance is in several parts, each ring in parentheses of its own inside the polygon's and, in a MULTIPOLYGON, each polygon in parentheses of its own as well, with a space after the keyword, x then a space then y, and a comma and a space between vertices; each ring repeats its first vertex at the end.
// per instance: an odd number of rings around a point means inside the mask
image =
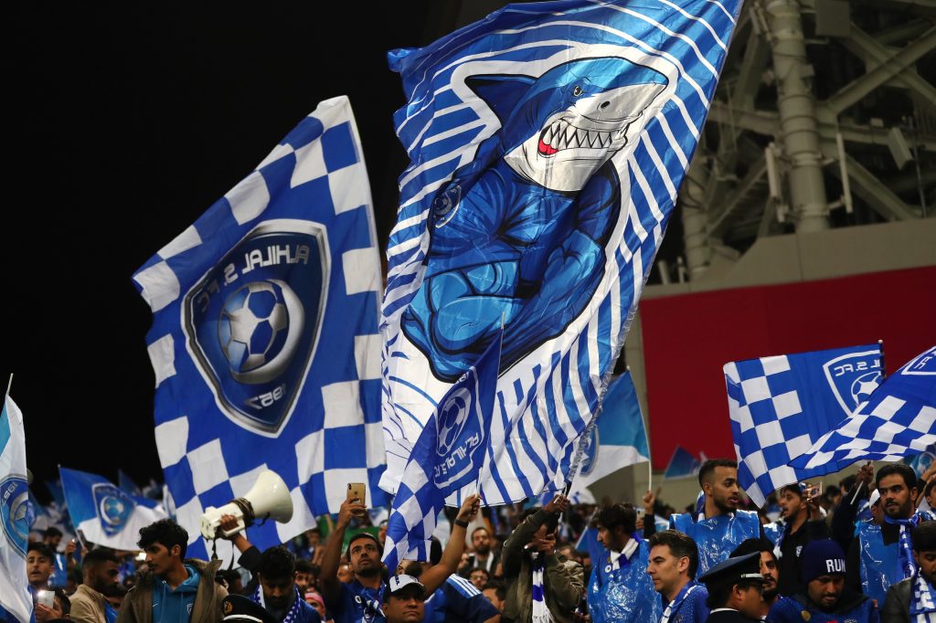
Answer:
MULTIPOLYGON (((390 53, 411 164, 388 242, 384 430, 410 440, 505 324, 482 495, 562 488, 695 152, 739 0, 510 5, 390 53)), ((448 500, 451 503, 452 500, 448 500)))

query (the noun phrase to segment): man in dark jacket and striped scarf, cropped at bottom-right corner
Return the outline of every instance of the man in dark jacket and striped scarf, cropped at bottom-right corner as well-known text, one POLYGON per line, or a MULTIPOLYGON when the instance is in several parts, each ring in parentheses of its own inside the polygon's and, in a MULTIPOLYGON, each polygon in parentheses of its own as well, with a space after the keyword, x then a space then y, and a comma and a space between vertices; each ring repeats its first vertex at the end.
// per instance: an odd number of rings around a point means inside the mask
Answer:
POLYGON ((887 589, 884 623, 936 620, 936 522, 920 524, 914 532, 914 562, 916 575, 887 589))

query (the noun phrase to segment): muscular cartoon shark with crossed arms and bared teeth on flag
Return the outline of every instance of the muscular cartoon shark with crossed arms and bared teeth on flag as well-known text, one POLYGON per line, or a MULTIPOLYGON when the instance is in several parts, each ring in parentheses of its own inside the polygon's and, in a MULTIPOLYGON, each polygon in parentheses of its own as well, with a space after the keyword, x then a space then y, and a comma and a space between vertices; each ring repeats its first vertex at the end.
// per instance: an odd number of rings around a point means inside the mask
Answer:
MULTIPOLYGON (((560 335, 604 275, 621 210, 608 161, 667 85, 619 57, 557 65, 539 78, 465 80, 501 129, 440 189, 423 283, 402 330, 454 381, 505 326, 501 369, 560 335)), ((634 129, 638 129, 636 126, 634 129)))

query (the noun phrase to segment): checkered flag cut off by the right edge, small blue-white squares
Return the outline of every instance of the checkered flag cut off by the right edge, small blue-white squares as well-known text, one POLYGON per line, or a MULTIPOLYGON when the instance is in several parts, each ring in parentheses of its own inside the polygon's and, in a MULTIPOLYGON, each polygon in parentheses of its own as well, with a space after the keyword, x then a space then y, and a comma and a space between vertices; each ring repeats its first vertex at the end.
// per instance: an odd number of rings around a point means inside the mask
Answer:
POLYGON ((936 443, 936 346, 887 377, 855 413, 792 462, 824 474, 856 461, 897 461, 936 443))

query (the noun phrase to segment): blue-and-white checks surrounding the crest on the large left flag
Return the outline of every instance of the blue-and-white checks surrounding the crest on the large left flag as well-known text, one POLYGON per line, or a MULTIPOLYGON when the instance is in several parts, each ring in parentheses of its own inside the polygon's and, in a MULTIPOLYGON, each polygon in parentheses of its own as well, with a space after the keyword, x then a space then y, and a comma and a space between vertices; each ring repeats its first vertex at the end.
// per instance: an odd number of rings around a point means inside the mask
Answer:
MULTIPOLYGON (((156 377, 155 438, 179 523, 191 542, 201 515, 277 472, 292 494, 287 524, 248 530, 261 549, 338 511, 348 482, 386 503, 380 430, 381 287, 370 185, 346 97, 322 102, 256 170, 134 275, 154 312, 147 336, 156 377), (290 417, 276 433, 239 426, 219 409, 180 323, 183 298, 262 223, 314 222, 327 232, 330 274, 317 348, 300 377, 290 417)), ((205 548, 190 547, 193 556, 205 548)), ((217 542, 219 550, 229 543, 217 542)))

